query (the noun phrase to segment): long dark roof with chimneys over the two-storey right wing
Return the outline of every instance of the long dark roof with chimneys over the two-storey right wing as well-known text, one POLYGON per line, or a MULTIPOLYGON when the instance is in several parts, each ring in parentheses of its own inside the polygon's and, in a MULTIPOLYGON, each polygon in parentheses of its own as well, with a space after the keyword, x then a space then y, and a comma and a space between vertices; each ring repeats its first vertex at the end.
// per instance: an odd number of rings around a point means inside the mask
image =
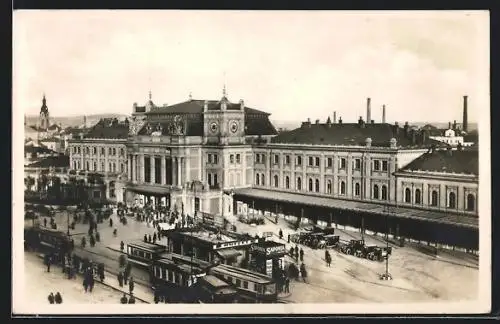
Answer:
POLYGON ((323 144, 323 145, 366 145, 366 139, 371 138, 371 146, 389 147, 391 138, 396 139, 398 147, 442 146, 437 141, 426 139, 423 132, 415 132, 415 143, 412 143, 411 131, 405 135, 402 127, 391 124, 306 124, 291 131, 285 131, 272 139, 272 143, 323 144))

